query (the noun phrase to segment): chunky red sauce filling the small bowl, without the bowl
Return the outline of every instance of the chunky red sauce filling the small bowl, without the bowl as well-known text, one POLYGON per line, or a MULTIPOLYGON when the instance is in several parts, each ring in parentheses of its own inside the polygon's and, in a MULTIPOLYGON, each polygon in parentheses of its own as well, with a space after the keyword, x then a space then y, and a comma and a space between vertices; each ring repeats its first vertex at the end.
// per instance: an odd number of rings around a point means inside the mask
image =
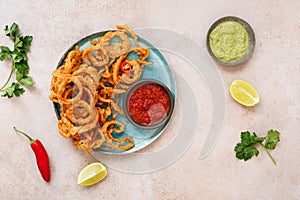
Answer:
POLYGON ((128 110, 136 123, 151 125, 167 116, 170 110, 169 101, 169 97, 162 87, 149 83, 132 92, 128 102, 128 110))

